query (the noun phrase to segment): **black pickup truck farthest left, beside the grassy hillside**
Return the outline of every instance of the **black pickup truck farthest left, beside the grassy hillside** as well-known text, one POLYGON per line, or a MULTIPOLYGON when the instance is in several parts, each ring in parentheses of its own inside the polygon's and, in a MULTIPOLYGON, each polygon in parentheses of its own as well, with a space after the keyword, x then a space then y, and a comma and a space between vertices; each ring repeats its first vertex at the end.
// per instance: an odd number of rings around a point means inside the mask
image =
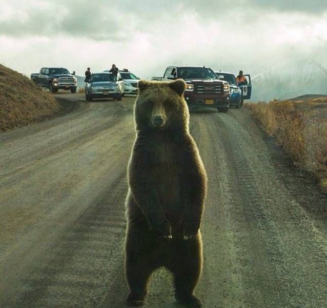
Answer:
POLYGON ((31 80, 38 86, 48 88, 51 93, 59 89, 70 90, 76 93, 77 79, 68 69, 63 67, 43 67, 39 73, 31 74, 31 80))

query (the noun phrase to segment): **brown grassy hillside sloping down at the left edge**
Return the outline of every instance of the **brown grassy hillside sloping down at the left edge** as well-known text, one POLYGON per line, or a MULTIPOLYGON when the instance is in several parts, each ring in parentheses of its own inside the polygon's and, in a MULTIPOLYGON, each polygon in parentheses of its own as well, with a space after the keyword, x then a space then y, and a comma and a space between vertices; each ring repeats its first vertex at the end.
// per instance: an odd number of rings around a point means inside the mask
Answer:
POLYGON ((50 93, 0 64, 0 131, 42 121, 60 109, 50 93))

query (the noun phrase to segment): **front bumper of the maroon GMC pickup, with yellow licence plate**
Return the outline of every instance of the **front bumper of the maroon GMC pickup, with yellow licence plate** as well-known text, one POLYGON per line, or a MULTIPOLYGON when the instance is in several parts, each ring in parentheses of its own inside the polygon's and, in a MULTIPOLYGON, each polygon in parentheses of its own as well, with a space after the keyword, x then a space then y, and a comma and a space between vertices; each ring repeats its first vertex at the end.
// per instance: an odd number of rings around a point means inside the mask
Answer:
POLYGON ((194 93, 184 93, 185 100, 190 108, 211 107, 228 108, 230 105, 230 94, 194 95, 194 93))

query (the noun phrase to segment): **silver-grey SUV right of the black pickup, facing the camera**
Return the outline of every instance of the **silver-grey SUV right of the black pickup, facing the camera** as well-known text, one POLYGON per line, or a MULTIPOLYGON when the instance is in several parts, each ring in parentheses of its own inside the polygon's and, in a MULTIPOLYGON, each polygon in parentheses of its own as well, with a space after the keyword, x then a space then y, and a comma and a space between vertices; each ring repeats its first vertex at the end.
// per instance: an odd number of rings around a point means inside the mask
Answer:
POLYGON ((112 73, 91 74, 90 81, 85 84, 85 99, 112 98, 121 101, 121 91, 117 78, 112 73))

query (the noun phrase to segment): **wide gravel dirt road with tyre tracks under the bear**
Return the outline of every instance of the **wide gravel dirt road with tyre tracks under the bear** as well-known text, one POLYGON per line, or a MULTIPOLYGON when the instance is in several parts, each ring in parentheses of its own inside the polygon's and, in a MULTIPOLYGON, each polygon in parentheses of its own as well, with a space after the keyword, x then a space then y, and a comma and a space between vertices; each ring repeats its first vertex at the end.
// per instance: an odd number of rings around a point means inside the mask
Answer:
MULTIPOLYGON (((124 307, 134 98, 60 97, 81 107, 0 134, 0 307, 124 307)), ((205 307, 324 307, 327 197, 244 108, 192 113, 191 133, 209 177, 205 307)), ((164 269, 147 307, 179 307, 164 269)))

